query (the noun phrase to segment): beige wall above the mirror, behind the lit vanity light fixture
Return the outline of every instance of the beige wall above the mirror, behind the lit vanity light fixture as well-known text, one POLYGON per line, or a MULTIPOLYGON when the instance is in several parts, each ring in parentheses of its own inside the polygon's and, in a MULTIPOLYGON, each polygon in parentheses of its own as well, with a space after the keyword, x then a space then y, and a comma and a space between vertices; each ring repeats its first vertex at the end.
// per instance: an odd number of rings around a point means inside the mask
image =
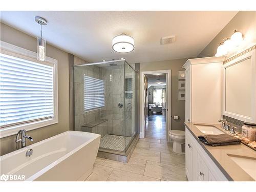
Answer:
POLYGON ((250 46, 253 42, 256 42, 256 11, 238 12, 197 57, 214 56, 217 51, 217 45, 222 42, 225 37, 230 37, 234 29, 237 29, 244 34, 244 42, 240 48, 229 53, 227 57, 236 52, 240 52, 244 48, 250 46))

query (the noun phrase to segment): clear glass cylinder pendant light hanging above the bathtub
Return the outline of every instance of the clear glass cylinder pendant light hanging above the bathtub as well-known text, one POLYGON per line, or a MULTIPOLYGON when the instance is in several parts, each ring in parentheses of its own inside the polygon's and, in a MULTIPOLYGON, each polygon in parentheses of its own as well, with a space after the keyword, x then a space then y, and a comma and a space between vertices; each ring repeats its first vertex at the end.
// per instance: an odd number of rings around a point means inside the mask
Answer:
POLYGON ((42 17, 35 17, 35 22, 40 25, 40 37, 37 37, 37 60, 46 60, 46 39, 42 38, 42 25, 47 25, 47 20, 42 17))

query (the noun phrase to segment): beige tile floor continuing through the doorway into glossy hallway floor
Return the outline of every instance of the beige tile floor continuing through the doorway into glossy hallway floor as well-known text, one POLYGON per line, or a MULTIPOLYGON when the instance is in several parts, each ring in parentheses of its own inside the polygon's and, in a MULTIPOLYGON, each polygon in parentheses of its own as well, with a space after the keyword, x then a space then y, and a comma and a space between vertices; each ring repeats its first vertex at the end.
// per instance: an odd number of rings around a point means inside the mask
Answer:
POLYGON ((185 156, 165 140, 165 114, 151 114, 145 139, 140 139, 128 163, 96 158, 86 181, 187 181, 185 156))

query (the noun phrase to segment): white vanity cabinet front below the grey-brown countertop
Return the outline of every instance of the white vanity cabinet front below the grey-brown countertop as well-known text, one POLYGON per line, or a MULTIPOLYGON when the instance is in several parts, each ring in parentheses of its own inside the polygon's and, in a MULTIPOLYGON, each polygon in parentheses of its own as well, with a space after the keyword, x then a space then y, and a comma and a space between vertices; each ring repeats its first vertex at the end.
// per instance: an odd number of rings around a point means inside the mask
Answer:
POLYGON ((185 136, 185 170, 188 181, 228 181, 187 127, 185 136))

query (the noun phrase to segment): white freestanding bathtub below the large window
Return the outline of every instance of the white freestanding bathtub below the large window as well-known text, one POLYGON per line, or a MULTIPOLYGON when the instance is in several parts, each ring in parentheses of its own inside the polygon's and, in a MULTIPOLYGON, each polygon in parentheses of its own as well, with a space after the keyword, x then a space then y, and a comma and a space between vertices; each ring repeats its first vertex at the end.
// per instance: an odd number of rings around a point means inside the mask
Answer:
POLYGON ((83 181, 92 173, 99 142, 98 134, 67 131, 1 156, 0 175, 24 175, 26 181, 83 181), (26 157, 31 148, 33 155, 26 157))

